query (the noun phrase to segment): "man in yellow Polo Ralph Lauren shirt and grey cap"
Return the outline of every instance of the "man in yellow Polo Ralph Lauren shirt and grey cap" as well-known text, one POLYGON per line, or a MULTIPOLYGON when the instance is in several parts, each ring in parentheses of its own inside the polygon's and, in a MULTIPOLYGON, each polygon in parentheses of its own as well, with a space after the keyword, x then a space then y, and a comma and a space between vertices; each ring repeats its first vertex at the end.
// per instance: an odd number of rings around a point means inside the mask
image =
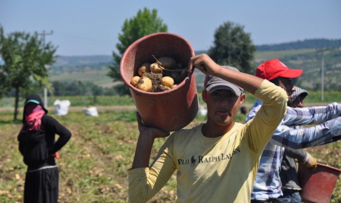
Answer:
POLYGON ((288 96, 269 81, 220 66, 206 54, 190 58, 188 67, 206 74, 202 96, 207 121, 175 131, 149 166, 154 139, 169 132, 145 126, 137 113, 129 201, 148 201, 177 170, 176 202, 249 202, 260 156, 286 112, 288 96), (243 89, 264 102, 246 124, 234 122, 245 100, 243 89))

